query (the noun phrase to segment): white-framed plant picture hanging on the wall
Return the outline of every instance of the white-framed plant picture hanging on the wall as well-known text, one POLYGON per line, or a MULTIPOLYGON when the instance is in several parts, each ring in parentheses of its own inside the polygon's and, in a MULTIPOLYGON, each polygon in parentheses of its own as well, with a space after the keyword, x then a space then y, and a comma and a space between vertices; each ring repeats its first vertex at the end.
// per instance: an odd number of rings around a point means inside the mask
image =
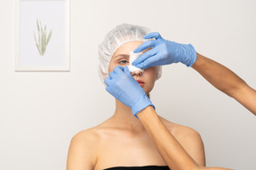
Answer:
POLYGON ((69 71, 69 0, 16 0, 15 71, 69 71))

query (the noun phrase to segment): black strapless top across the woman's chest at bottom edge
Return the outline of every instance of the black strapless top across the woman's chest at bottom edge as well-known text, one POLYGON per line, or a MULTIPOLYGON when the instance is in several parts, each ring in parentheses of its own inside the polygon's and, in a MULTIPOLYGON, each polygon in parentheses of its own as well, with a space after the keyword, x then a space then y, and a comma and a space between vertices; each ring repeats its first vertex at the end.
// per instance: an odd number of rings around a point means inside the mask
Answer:
POLYGON ((115 166, 103 170, 170 170, 168 166, 115 166))

